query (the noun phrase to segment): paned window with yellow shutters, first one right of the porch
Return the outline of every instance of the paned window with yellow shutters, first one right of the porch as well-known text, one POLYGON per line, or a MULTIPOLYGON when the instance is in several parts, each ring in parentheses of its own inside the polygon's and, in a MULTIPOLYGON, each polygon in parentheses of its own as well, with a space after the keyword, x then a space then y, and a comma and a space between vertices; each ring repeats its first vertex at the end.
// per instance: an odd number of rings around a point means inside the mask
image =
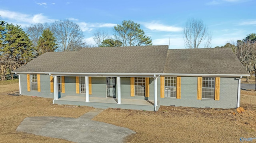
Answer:
POLYGON ((164 97, 176 97, 176 77, 165 77, 164 97))

